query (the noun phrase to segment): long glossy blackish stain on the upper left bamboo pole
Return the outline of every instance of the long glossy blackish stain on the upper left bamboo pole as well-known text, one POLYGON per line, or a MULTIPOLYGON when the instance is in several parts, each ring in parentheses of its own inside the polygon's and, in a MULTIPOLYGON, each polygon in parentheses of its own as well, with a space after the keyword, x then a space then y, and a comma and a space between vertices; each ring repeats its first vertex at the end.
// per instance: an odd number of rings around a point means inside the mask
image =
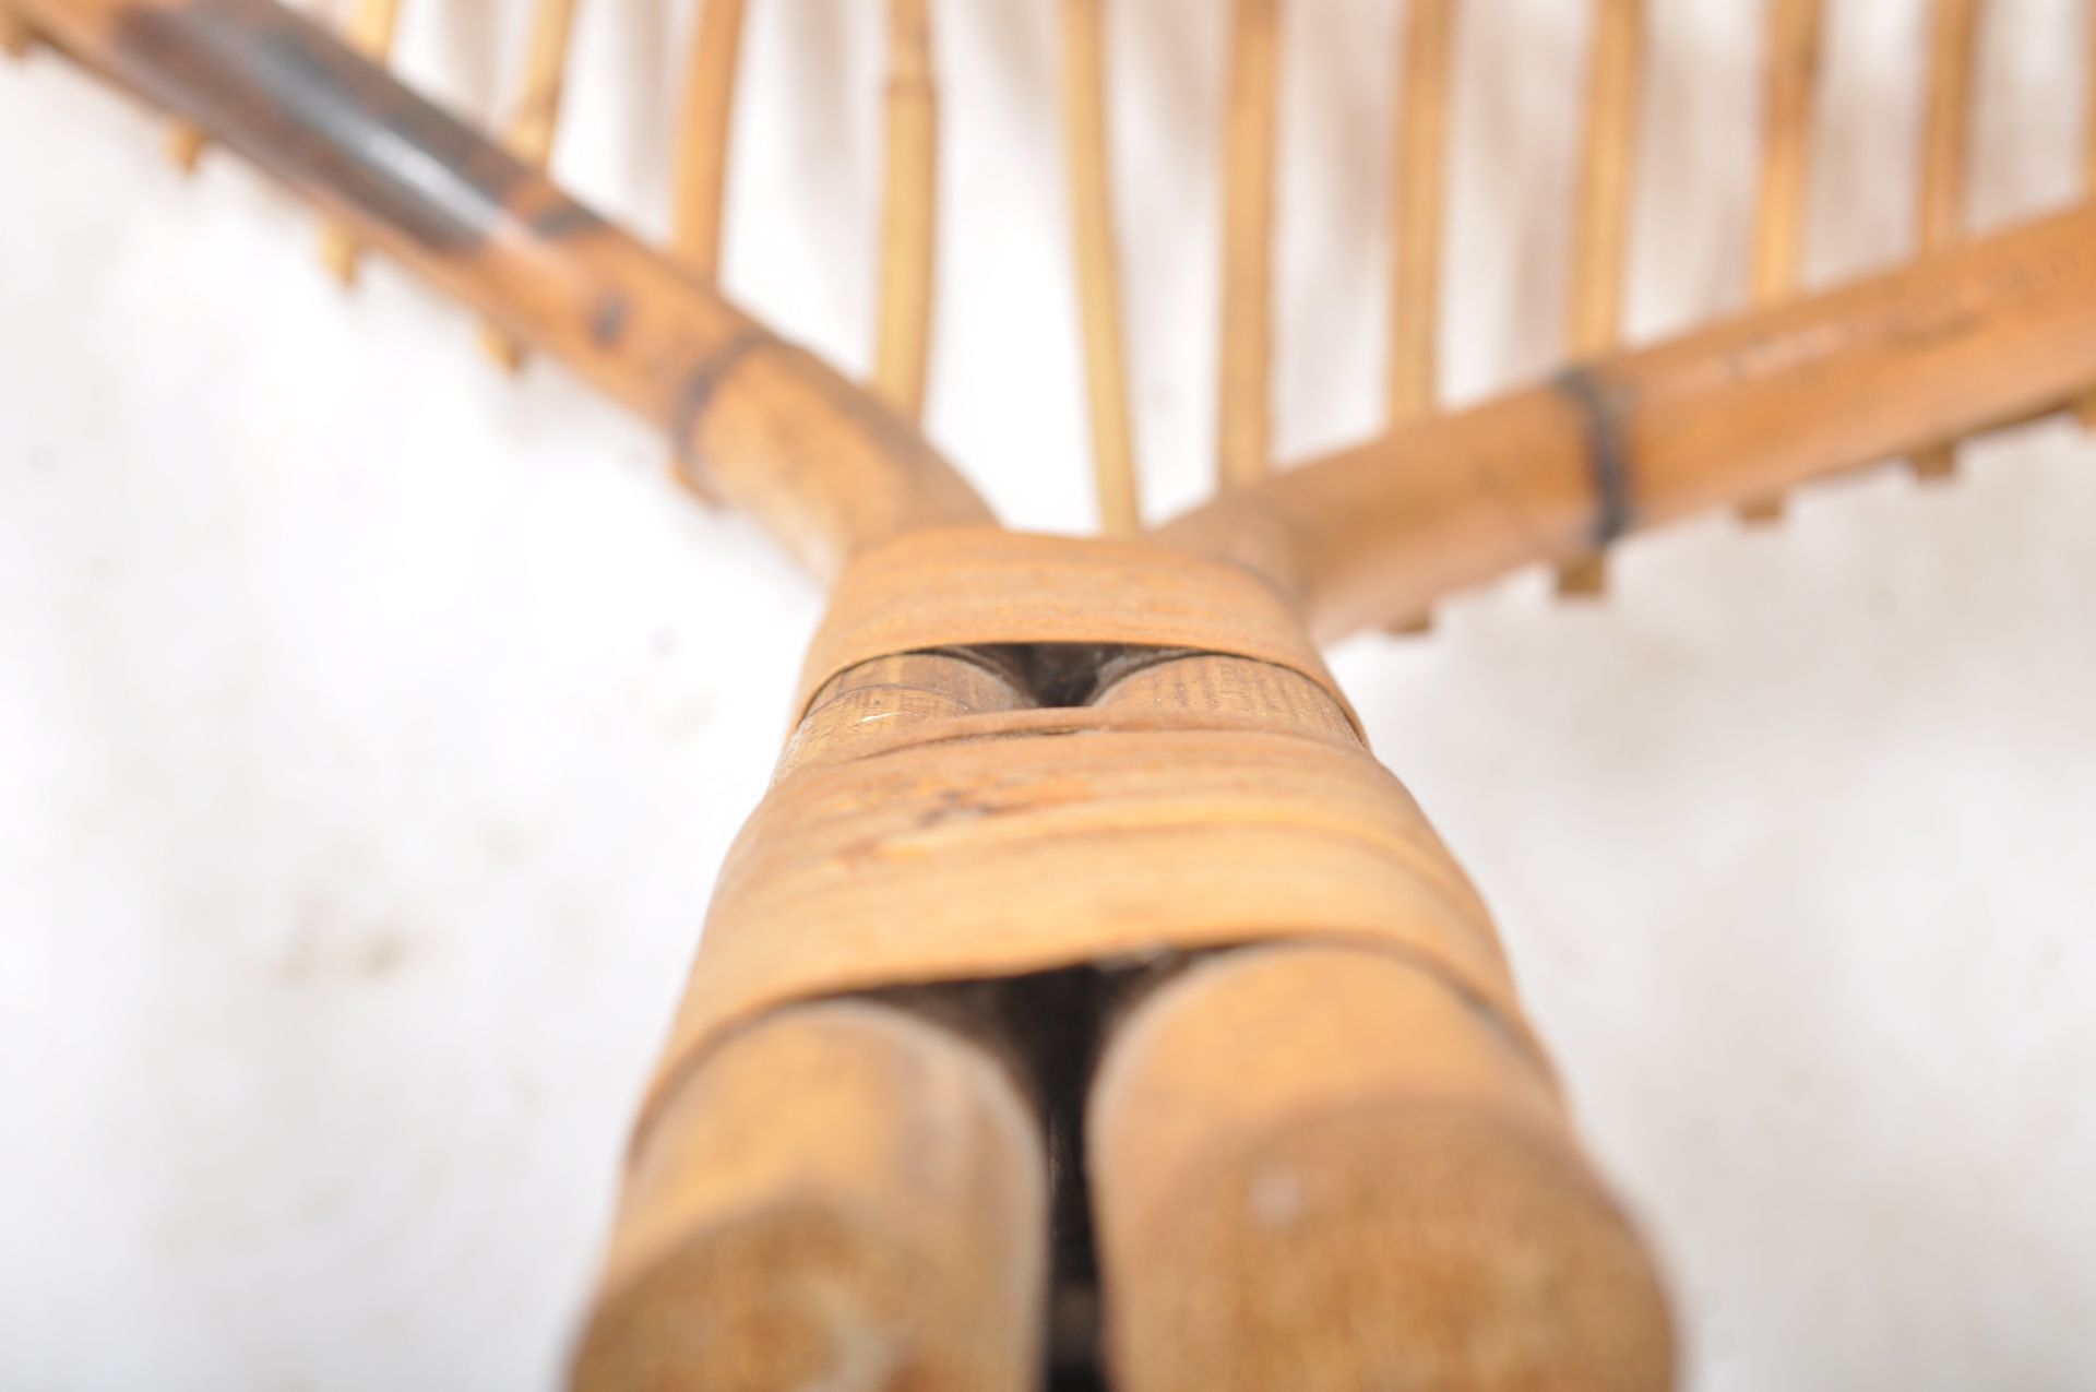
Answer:
MULTIPOLYGON (((170 113, 432 252, 472 252, 539 182, 501 147, 266 0, 132 6, 111 61, 170 113)), ((595 222, 562 197, 534 224, 566 226, 578 212, 595 222)))

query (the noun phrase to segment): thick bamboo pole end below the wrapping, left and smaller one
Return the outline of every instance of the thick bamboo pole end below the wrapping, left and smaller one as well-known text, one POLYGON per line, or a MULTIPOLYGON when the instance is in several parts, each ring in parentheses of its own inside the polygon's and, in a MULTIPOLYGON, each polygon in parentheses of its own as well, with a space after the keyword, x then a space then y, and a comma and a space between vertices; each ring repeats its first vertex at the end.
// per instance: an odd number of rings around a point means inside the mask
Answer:
POLYGON ((635 1149, 572 1386, 1029 1390, 1044 1168, 987 1048, 868 1000, 780 1010, 635 1149))

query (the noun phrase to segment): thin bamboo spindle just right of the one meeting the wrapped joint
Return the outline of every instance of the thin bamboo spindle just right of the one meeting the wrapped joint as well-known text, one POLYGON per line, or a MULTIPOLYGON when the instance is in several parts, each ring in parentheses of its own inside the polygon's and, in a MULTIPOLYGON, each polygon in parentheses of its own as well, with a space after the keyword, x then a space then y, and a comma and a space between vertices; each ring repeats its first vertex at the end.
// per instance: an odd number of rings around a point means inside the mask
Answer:
POLYGON ((1216 470, 1243 486, 1270 467, 1274 314, 1274 159, 1281 99, 1281 0, 1230 8, 1222 149, 1222 350, 1216 470))

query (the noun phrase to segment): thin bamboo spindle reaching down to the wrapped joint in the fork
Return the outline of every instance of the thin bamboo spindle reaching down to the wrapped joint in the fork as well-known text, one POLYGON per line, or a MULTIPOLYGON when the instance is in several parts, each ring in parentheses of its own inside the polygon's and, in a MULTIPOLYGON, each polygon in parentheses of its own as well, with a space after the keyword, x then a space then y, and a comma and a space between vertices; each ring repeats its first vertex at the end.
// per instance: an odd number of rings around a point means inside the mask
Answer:
POLYGON ((1121 268, 1113 241, 1105 0, 1063 0, 1063 140, 1069 153, 1071 245, 1077 258, 1098 524, 1109 537, 1130 537, 1142 528, 1142 499, 1128 415, 1121 268))

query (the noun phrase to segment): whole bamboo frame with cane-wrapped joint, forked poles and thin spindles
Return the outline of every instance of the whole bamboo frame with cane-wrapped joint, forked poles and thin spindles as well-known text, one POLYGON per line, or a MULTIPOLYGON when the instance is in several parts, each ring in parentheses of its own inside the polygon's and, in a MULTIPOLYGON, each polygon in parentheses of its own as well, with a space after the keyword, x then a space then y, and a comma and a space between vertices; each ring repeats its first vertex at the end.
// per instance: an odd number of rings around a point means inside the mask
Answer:
POLYGON ((1920 243, 1798 293, 1817 0, 1769 0, 1754 306, 1620 346, 1641 0, 1595 0, 1570 363, 1436 405, 1453 0, 1411 0, 1388 430, 1276 470, 1279 0, 1235 0, 1216 497, 1138 507, 1102 0, 1061 0, 1102 537, 1006 530, 916 430, 933 291, 931 6, 891 0, 872 382, 713 287, 742 0, 704 0, 664 247, 547 174, 574 0, 501 134, 272 0, 0 0, 365 249, 669 436, 830 587, 778 776, 721 872, 635 1128, 585 1388, 1662 1388, 1654 1264, 1570 1130, 1476 891, 1320 658, 1633 528, 2096 384, 2096 203, 1960 229, 1977 0, 1937 0, 1920 243))

